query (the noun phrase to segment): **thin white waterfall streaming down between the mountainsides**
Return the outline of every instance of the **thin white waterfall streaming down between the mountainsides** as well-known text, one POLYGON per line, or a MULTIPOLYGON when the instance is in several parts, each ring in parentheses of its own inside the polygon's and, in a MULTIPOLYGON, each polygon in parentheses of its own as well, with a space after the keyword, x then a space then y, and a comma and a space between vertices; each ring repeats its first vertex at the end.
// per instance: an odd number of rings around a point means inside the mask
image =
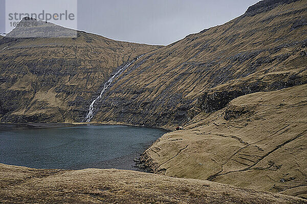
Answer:
POLYGON ((104 91, 111 85, 111 83, 114 81, 114 79, 116 77, 118 77, 124 70, 126 70, 132 63, 134 63, 135 61, 137 61, 139 58, 143 57, 144 55, 141 55, 140 57, 138 57, 136 60, 133 60, 131 62, 128 62, 125 66, 123 66, 122 68, 120 68, 105 84, 103 89, 100 92, 100 95, 92 101, 92 104, 90 105, 89 108, 89 113, 87 113, 86 115, 86 122, 90 122, 91 119, 94 117, 94 104, 96 102, 96 100, 98 100, 99 98, 102 97, 102 94, 104 93, 104 91))

